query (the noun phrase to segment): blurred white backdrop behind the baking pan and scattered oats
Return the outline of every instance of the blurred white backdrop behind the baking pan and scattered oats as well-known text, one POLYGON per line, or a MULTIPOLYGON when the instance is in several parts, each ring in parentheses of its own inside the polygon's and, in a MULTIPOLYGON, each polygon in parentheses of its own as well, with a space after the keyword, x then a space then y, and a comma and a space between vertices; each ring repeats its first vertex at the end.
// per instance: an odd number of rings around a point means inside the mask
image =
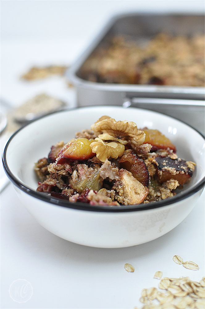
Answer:
POLYGON ((20 105, 40 92, 73 106, 74 94, 59 78, 25 83, 32 66, 72 63, 107 21, 125 12, 205 12, 204 0, 1 0, 1 98, 20 105))

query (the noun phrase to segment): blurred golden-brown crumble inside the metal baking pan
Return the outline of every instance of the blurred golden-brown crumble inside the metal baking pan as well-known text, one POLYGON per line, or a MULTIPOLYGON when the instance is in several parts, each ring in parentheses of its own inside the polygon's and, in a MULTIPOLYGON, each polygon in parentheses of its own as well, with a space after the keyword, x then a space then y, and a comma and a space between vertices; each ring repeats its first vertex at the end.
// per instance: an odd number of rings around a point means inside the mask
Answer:
POLYGON ((77 75, 108 84, 205 86, 205 34, 158 33, 143 42, 113 36, 90 54, 77 75))

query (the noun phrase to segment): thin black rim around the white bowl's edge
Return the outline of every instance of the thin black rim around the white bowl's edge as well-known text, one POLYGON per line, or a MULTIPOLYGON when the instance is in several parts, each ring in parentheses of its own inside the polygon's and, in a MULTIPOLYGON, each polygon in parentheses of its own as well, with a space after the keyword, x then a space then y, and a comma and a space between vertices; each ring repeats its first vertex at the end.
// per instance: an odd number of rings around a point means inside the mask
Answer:
MULTIPOLYGON (((106 105, 103 105, 101 107, 105 107, 106 105)), ((94 108, 97 106, 87 106, 87 107, 83 107, 83 108, 70 108, 70 109, 64 109, 64 110, 59 110, 59 111, 55 111, 55 112, 51 112, 48 115, 45 116, 41 116, 38 119, 29 122, 28 124, 24 125, 23 127, 21 127, 20 129, 18 129, 17 131, 15 131, 11 137, 9 138, 9 140, 6 143, 6 146, 4 148, 3 154, 2 154, 2 162, 3 162, 3 167, 4 170, 8 176, 8 178, 10 179, 10 181, 19 189, 21 189, 22 191, 24 191, 25 193, 31 195, 32 197, 38 198, 42 201, 51 203, 53 205, 57 205, 57 206, 62 206, 62 207, 67 207, 67 208, 71 208, 71 209, 76 209, 76 210, 87 210, 87 211, 100 211, 100 212, 130 212, 130 211, 140 211, 140 210, 149 210, 149 209, 155 209, 155 208, 161 208, 163 206, 166 205, 170 205, 170 204, 174 204, 178 201, 184 200, 188 197, 190 197, 191 195, 195 194, 196 192, 198 192, 200 189, 202 189, 205 185, 205 177, 203 177, 203 179, 195 186, 193 186, 193 188, 191 189, 185 189, 184 191, 176 194, 174 197, 171 198, 167 198, 165 200, 161 200, 161 201, 155 201, 155 202, 150 202, 150 203, 146 203, 146 204, 138 204, 138 205, 120 205, 120 206, 106 206, 106 205, 95 205, 92 206, 90 204, 87 203, 82 203, 82 202, 69 202, 68 200, 64 200, 64 199, 59 199, 59 198, 55 198, 51 195, 42 193, 42 192, 38 192, 35 191, 29 187, 27 187, 26 185, 23 184, 23 182, 21 183, 14 175, 13 173, 10 171, 10 168, 8 167, 7 161, 6 161, 6 151, 7 148, 11 142, 11 140, 15 137, 15 135, 22 130, 24 127, 26 127, 27 125, 30 125, 30 123, 33 123, 35 121, 38 121, 39 119, 42 119, 44 117, 50 116, 52 114, 55 113, 59 113, 59 112, 69 112, 71 110, 77 110, 77 109, 86 109, 86 108, 94 108)), ((100 106, 99 106, 100 107, 100 106)), ((120 107, 120 106, 119 106, 120 107)), ((146 111, 146 109, 142 109, 139 108, 140 110, 144 110, 146 111)), ((157 114, 161 114, 164 116, 167 116, 163 113, 160 112, 155 112, 155 111, 150 111, 147 110, 149 112, 153 112, 153 113, 157 113, 157 114)), ((173 119, 178 120, 177 118, 171 117, 171 116, 167 116, 173 119)), ((185 125, 185 122, 178 120, 180 122, 182 122, 185 125)), ((205 137, 203 136, 202 133, 200 133, 199 131, 197 131, 195 128, 191 127, 190 125, 188 125, 190 128, 194 129, 196 132, 199 133, 199 135, 201 135, 204 139, 205 137)))

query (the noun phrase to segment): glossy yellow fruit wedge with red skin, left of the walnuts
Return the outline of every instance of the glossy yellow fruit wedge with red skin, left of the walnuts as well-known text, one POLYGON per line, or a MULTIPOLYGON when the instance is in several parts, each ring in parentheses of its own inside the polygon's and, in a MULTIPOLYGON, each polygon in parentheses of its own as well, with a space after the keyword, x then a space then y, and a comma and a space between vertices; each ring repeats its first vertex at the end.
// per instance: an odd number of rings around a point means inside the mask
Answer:
POLYGON ((88 160, 95 156, 90 148, 90 144, 94 140, 87 138, 76 138, 72 139, 68 144, 65 145, 57 158, 56 164, 69 163, 71 161, 88 160))

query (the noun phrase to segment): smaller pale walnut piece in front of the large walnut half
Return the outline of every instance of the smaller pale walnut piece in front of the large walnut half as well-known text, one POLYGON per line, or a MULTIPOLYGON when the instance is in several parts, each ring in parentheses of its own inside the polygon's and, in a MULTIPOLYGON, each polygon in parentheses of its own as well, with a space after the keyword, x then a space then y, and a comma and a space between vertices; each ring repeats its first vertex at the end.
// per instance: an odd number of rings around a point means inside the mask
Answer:
POLYGON ((95 142, 90 144, 90 148, 93 153, 96 153, 96 157, 101 161, 105 162, 110 157, 117 159, 123 155, 125 147, 123 144, 118 142, 103 142, 100 138, 95 138, 95 142))

